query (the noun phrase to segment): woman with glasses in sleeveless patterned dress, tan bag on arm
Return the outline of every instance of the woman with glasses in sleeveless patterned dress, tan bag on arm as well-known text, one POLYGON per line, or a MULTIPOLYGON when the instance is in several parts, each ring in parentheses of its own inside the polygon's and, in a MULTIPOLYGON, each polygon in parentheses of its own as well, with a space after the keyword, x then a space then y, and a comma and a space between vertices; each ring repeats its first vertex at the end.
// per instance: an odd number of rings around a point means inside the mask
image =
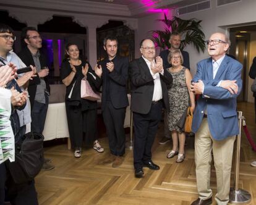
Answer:
POLYGON ((182 128, 177 126, 187 107, 195 109, 194 93, 189 91, 192 75, 189 69, 182 66, 183 57, 179 49, 169 53, 168 61, 171 63, 168 72, 173 75, 173 86, 168 90, 170 112, 168 114, 168 126, 173 138, 173 149, 167 154, 167 158, 177 156, 176 162, 183 162, 185 158, 186 135, 182 128), (179 145, 179 146, 178 146, 179 145))

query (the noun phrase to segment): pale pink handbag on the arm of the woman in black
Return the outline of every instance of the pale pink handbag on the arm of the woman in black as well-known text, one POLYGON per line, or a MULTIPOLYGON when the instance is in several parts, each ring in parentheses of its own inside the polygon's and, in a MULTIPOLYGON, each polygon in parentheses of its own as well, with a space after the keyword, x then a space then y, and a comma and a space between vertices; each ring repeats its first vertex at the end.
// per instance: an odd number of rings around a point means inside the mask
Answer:
POLYGON ((90 86, 90 83, 86 77, 81 80, 81 98, 88 99, 90 101, 96 101, 100 99, 100 93, 95 93, 92 90, 92 87, 90 86))

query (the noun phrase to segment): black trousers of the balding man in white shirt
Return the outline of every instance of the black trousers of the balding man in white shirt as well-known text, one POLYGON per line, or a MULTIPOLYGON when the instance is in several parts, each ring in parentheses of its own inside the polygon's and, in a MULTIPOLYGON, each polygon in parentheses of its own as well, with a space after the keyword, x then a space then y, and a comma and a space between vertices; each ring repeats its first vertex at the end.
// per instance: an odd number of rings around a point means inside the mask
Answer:
POLYGON ((142 169, 143 162, 151 161, 151 148, 161 120, 163 102, 151 104, 148 114, 133 113, 134 119, 134 169, 142 169))

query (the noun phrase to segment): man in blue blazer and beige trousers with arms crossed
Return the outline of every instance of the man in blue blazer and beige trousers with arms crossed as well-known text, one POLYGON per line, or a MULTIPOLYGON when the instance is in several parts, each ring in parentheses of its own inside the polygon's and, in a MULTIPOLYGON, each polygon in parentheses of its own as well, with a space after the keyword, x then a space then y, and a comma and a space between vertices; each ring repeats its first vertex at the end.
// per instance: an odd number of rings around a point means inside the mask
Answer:
POLYGON ((213 33, 208 44, 210 58, 197 63, 191 91, 200 94, 194 111, 195 172, 199 198, 192 205, 212 203, 211 151, 216 170, 218 205, 228 204, 233 146, 239 133, 236 98, 242 90, 242 64, 226 55, 230 41, 213 33))

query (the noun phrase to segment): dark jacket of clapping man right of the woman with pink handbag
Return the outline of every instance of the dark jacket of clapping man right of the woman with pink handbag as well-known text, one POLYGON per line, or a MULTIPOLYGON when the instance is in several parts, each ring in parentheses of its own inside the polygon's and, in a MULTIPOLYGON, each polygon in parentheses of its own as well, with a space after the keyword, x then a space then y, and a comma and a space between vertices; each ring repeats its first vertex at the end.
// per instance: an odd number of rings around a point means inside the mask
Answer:
POLYGON ((102 73, 102 96, 101 108, 104 110, 106 101, 111 101, 114 108, 124 108, 129 105, 127 98, 127 79, 129 60, 127 57, 116 56, 112 60, 114 63, 113 72, 109 72, 106 68, 106 63, 109 62, 105 59, 99 62, 103 69, 102 73))

